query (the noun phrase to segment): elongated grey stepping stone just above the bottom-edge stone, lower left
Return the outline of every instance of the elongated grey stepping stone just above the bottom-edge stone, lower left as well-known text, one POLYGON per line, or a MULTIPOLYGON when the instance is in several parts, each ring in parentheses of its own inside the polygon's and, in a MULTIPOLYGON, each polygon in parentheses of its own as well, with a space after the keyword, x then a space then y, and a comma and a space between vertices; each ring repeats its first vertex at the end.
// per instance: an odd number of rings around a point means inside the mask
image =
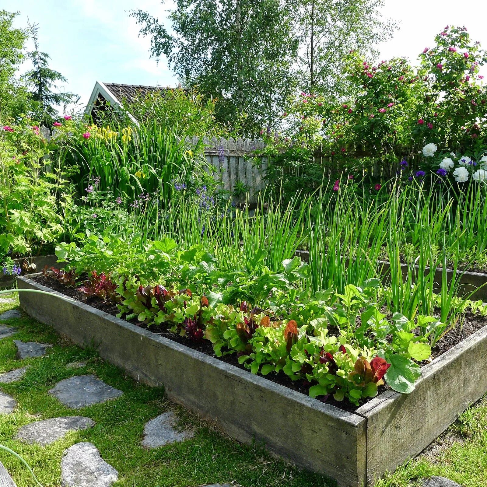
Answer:
POLYGON ((62 438, 68 431, 87 430, 93 427, 93 419, 84 416, 43 419, 22 426, 15 435, 15 439, 22 443, 39 443, 45 447, 62 438))

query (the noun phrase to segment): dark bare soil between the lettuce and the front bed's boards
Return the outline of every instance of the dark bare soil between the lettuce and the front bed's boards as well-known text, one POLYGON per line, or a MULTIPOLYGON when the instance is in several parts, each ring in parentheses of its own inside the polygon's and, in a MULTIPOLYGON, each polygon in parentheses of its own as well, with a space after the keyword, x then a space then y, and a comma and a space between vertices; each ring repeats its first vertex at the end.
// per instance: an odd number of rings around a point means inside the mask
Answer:
MULTIPOLYGON (((64 294, 66 296, 69 296, 70 298, 73 298, 77 301, 81 302, 86 302, 86 304, 89 304, 90 306, 93 306, 96 309, 99 309, 101 311, 104 311, 105 313, 109 313, 110 315, 116 316, 119 312, 116 304, 112 302, 105 302, 104 300, 98 298, 98 297, 90 297, 87 300, 84 299, 84 295, 80 292, 77 291, 75 287, 67 286, 65 284, 62 284, 55 279, 51 278, 49 275, 37 275, 34 277, 31 277, 33 281, 38 282, 39 284, 42 284, 44 286, 47 286, 55 291, 58 291, 61 294, 64 294)), ((140 326, 142 328, 147 328, 146 325, 143 323, 140 323, 137 321, 137 318, 133 318, 130 320, 130 323, 140 326)), ((473 313, 465 313, 462 315, 462 319, 460 323, 457 323, 457 326, 450 330, 444 337, 441 338, 436 343, 436 346, 432 349, 432 354, 431 358, 434 359, 448 350, 450 348, 454 347, 455 345, 458 345, 460 342, 465 340, 465 338, 468 338, 470 335, 475 333, 476 331, 480 330, 484 326, 487 325, 487 318, 482 317, 480 315, 474 315, 473 313)), ((182 345, 186 345, 189 348, 192 348, 194 350, 197 350, 199 352, 202 352, 206 355, 212 356, 214 358, 217 358, 218 360, 222 360, 228 364, 234 365, 235 367, 238 367, 240 369, 245 369, 244 365, 241 365, 237 361, 237 356, 236 354, 231 354, 231 355, 226 355, 223 357, 217 357, 213 353, 213 346, 209 340, 201 340, 199 342, 195 342, 192 340, 189 340, 186 337, 181 337, 180 335, 174 334, 170 331, 168 331, 164 326, 160 325, 151 325, 150 326, 150 331, 153 333, 156 333, 162 337, 169 338, 170 340, 173 340, 175 342, 181 343, 182 345)), ((426 365, 428 362, 424 361, 420 365, 426 365)), ((312 384, 303 381, 303 380, 298 380, 298 381, 292 381, 289 379, 287 375, 284 373, 279 373, 279 374, 269 374, 265 376, 266 379, 271 380, 272 382, 276 382, 277 384, 281 384, 285 387, 288 387, 289 389, 293 389, 294 391, 298 391, 300 393, 308 395, 308 390, 311 387, 312 384)), ((382 393, 386 390, 389 389, 389 386, 384 385, 384 386, 379 386, 378 388, 378 393, 382 393)), ((326 402, 327 404, 331 404, 333 406, 336 406, 337 408, 340 408, 345 411, 349 412, 354 412, 356 409, 360 406, 354 406, 353 404, 349 403, 348 401, 336 401, 333 396, 329 396, 328 398, 321 398, 318 400, 322 400, 323 402, 326 402)), ((362 405, 365 402, 368 402, 370 399, 366 399, 364 402, 362 402, 360 405, 362 405)))

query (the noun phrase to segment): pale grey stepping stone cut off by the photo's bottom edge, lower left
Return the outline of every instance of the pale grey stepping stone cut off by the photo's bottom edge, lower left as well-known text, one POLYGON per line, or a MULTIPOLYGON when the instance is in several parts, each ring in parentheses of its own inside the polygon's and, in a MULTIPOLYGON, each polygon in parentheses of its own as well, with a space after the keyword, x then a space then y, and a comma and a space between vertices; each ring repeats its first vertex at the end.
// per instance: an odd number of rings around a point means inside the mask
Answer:
POLYGON ((118 472, 100 456, 93 443, 76 443, 64 450, 61 487, 111 487, 118 472))

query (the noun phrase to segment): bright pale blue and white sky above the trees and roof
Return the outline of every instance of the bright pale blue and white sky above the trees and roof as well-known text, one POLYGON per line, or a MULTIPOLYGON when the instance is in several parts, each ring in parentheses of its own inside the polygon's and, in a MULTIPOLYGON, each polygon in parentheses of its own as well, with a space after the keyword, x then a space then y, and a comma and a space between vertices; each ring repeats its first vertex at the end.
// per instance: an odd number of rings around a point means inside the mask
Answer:
MULTIPOLYGON (((129 12, 140 8, 164 19, 171 1, 160 0, 0 0, 0 10, 18 10, 16 27, 27 19, 39 24, 42 51, 51 56, 50 67, 61 72, 65 91, 88 102, 95 81, 141 85, 177 86, 178 80, 161 60, 150 58, 150 39, 138 37, 129 12)), ((465 25, 470 37, 487 49, 487 0, 470 0, 466 8, 458 0, 385 0, 382 14, 398 23, 393 38, 380 44, 381 59, 404 56, 416 60, 431 47, 434 36, 446 25, 465 25)), ((29 45, 28 45, 29 47, 29 45)), ((21 67, 20 72, 29 69, 21 67)), ((487 67, 483 67, 487 75, 487 67)))

